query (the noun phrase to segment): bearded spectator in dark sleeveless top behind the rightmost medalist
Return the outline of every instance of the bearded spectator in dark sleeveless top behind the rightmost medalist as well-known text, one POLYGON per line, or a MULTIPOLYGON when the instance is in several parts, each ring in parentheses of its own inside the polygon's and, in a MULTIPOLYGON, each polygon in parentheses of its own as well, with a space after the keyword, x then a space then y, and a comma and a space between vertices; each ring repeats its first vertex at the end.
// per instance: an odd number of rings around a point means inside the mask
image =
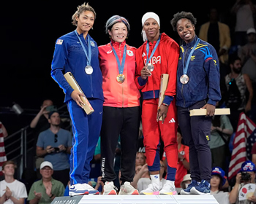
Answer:
POLYGON ((227 93, 225 94, 225 104, 230 108, 228 115, 233 130, 236 131, 239 114, 247 113, 252 106, 252 82, 248 74, 241 73, 241 59, 237 55, 230 55, 230 74, 225 76, 227 93), (246 99, 246 90, 249 92, 249 98, 246 99))

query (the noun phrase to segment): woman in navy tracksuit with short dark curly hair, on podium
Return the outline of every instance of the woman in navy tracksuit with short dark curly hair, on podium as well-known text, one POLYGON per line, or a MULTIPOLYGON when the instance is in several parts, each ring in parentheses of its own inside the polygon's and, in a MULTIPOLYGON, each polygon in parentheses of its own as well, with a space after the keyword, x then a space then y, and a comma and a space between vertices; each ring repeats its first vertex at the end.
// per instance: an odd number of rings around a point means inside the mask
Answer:
POLYGON ((217 101, 221 99, 219 87, 219 60, 214 47, 195 34, 196 19, 191 12, 173 15, 171 25, 182 39, 177 69, 176 106, 178 125, 189 146, 189 165, 192 182, 181 195, 210 195, 211 119, 217 101), (189 110, 206 109, 206 116, 189 115, 189 110))

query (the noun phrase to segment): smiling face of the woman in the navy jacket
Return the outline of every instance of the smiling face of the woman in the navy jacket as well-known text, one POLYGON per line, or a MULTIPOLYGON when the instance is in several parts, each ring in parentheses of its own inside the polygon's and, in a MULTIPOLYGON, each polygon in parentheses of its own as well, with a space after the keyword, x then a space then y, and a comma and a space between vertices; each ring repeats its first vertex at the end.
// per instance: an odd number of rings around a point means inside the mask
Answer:
POLYGON ((195 26, 187 18, 181 18, 177 22, 178 35, 184 42, 189 43, 195 38, 195 26))

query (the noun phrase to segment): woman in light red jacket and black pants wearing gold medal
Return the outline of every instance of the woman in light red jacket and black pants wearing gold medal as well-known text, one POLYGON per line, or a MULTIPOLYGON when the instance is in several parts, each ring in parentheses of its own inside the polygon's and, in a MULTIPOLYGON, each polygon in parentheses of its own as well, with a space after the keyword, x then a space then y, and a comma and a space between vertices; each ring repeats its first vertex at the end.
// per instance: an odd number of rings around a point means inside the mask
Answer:
POLYGON ((135 85, 136 48, 126 43, 127 19, 113 15, 106 23, 108 44, 99 46, 99 66, 103 82, 103 118, 101 130, 101 170, 104 195, 116 195, 114 159, 118 137, 121 141, 121 187, 119 195, 135 195, 130 184, 135 176, 135 157, 140 125, 140 92, 135 85), (122 76, 122 77, 120 77, 122 76))

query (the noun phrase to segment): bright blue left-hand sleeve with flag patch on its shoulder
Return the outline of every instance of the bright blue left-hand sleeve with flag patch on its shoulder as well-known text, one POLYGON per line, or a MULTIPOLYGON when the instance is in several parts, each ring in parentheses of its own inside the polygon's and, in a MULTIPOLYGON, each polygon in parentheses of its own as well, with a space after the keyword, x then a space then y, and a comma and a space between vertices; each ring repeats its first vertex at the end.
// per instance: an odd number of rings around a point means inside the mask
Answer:
POLYGON ((62 39, 57 39, 55 44, 50 76, 52 76, 52 78, 58 83, 59 87, 63 89, 64 93, 67 95, 68 101, 69 99, 71 99, 71 93, 73 92, 73 89, 69 85, 63 74, 64 66, 67 61, 67 42, 63 39, 63 42, 61 44, 58 44, 58 40, 62 39))

